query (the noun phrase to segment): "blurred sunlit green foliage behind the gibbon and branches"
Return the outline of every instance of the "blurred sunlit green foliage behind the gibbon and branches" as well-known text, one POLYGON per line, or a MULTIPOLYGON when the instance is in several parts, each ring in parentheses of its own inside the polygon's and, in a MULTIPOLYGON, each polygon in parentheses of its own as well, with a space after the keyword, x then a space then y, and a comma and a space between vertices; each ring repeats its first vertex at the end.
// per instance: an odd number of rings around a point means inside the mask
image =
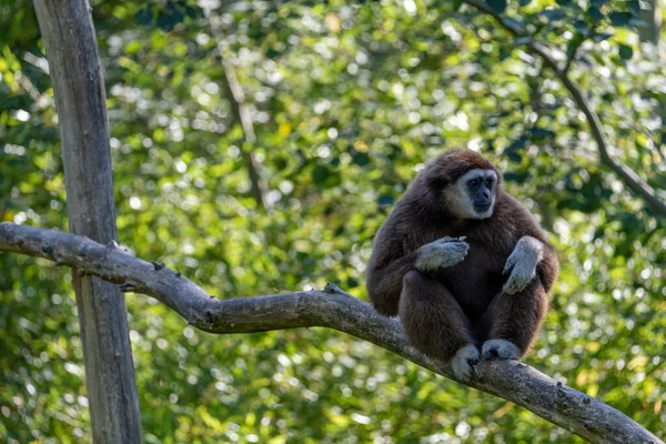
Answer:
MULTIPOLYGON (((658 22, 638 1, 490 4, 562 63, 575 53, 568 75, 613 155, 664 196, 658 22)), ((415 172, 445 148, 480 150, 562 261, 526 362, 666 435, 666 218, 601 163, 557 77, 487 16, 434 0, 92 7, 120 240, 137 255, 220 297, 334 282, 365 299, 373 235, 415 172)), ((65 230, 32 8, 0 1, 0 221, 65 230)), ((147 443, 579 441, 334 331, 214 336, 142 295, 128 309, 147 443)), ((70 272, 0 254, 0 441, 90 442, 83 377, 70 272)))

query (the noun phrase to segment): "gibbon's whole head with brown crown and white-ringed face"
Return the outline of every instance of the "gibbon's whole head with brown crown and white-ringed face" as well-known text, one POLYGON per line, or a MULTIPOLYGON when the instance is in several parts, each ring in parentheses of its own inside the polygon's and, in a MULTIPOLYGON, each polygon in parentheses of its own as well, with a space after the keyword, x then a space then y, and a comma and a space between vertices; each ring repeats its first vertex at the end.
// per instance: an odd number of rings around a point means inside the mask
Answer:
POLYGON ((454 216, 488 219, 493 215, 502 175, 477 152, 445 151, 427 163, 423 176, 428 189, 454 216))

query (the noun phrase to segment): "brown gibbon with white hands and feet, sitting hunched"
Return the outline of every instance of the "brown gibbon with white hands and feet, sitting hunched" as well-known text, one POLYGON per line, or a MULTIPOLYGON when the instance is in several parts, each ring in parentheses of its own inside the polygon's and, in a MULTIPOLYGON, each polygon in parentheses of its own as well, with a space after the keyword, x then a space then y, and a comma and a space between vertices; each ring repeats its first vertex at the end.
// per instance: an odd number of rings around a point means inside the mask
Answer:
POLYGON ((501 185, 500 172, 481 154, 440 154, 380 229, 367 268, 374 307, 400 316, 410 342, 425 354, 453 360, 462 380, 481 359, 518 359, 528 351, 558 273, 546 235, 501 185), (461 190, 478 186, 461 181, 474 174, 491 178, 485 198, 492 206, 482 216, 461 210, 473 195, 461 190))

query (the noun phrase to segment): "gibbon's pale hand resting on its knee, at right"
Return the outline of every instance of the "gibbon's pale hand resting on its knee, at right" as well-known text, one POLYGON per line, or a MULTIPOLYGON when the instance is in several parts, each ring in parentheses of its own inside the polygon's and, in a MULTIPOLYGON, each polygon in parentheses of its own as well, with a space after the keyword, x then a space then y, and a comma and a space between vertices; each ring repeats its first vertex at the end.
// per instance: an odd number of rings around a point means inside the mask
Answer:
POLYGON ((525 289, 536 275, 536 265, 543 255, 543 244, 534 238, 522 238, 513 253, 506 260, 502 274, 511 271, 502 287, 505 293, 514 294, 525 289))

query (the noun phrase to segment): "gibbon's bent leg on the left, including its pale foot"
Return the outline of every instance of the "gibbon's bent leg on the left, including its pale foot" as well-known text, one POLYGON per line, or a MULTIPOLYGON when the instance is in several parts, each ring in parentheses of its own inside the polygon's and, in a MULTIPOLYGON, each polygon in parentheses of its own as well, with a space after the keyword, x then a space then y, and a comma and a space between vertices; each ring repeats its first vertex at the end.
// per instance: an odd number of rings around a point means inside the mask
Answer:
POLYGON ((412 270, 403 278, 400 319, 412 345, 428 356, 451 360, 453 373, 472 377, 480 361, 470 320, 453 294, 438 281, 412 270))

